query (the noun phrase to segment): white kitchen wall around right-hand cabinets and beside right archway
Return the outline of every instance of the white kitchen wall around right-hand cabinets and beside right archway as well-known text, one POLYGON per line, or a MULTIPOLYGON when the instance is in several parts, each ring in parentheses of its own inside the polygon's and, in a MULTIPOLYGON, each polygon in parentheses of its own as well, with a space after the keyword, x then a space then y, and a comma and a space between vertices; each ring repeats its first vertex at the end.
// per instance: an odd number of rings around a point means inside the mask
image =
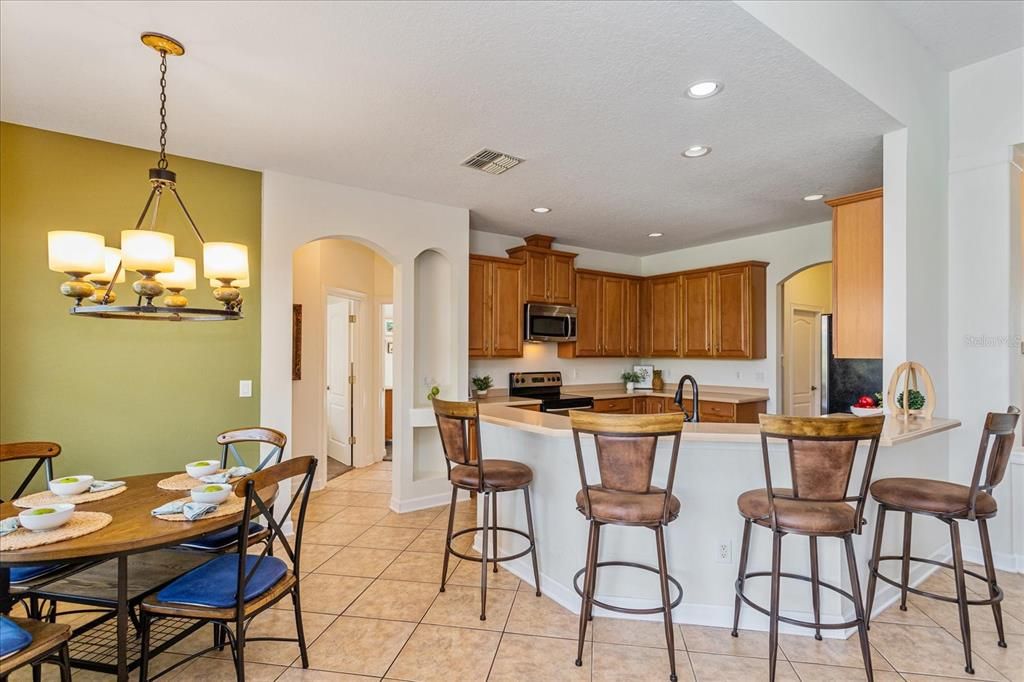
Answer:
POLYGON ((779 396, 775 395, 778 386, 778 284, 808 265, 831 260, 831 222, 645 256, 642 271, 645 275, 660 274, 742 260, 768 262, 767 356, 756 360, 655 357, 649 363, 664 370, 663 377, 669 385, 679 381, 684 374, 692 374, 702 384, 767 388, 768 412, 774 412, 779 404, 779 396))

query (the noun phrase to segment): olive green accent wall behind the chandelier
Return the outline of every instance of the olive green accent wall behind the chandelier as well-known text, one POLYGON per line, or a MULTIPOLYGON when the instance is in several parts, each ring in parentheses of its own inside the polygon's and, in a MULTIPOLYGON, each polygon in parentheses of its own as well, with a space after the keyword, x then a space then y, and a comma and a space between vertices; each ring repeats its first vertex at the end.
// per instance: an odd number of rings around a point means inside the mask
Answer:
MULTIPOLYGON (((157 153, 0 123, 0 441, 53 440, 57 475, 181 470, 218 457, 216 435, 259 423, 260 191, 257 172, 170 157, 203 236, 249 247, 252 286, 238 322, 73 317, 61 273, 47 267, 46 232, 78 229, 120 245, 150 191, 157 153), (239 381, 253 397, 239 397, 239 381)), ((202 246, 165 198, 157 229, 196 259, 190 304, 219 307, 202 279, 202 246)), ((134 304, 129 272, 118 303, 134 304)), ((160 299, 157 299, 158 301, 160 299)), ((0 470, 0 498, 20 481, 0 470)), ((40 480, 42 475, 40 475, 40 480)), ((35 487, 39 487, 36 485, 35 487)))

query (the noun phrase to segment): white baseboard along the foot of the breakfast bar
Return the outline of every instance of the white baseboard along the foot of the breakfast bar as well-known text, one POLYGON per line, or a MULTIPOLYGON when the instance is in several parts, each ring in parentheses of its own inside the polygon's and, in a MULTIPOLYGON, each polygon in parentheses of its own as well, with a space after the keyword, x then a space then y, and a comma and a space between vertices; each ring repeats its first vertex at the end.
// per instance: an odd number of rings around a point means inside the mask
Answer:
MULTIPOLYGON (((473 543, 473 548, 479 552, 480 545, 479 541, 475 540, 473 543)), ((949 561, 952 554, 949 551, 949 547, 940 548, 937 552, 933 553, 930 559, 937 561, 949 561)), ((512 561, 504 561, 502 565, 508 568, 509 572, 514 574, 519 580, 523 581, 527 585, 534 585, 534 564, 529 555, 519 557, 518 559, 513 559, 512 561)), ((543 566, 542 566, 543 568, 543 566)), ((910 581, 909 584, 912 587, 916 587, 922 582, 924 582, 929 576, 938 570, 938 566, 934 566, 929 563, 913 563, 910 568, 910 581)), ((861 586, 862 591, 866 591, 866 581, 861 586)), ((544 571, 541 570, 541 592, 546 597, 550 597, 559 605, 567 608, 573 613, 580 612, 580 595, 575 593, 575 590, 571 586, 565 587, 560 583, 552 580, 551 578, 545 576, 544 571)), ((630 608, 652 608, 660 606, 660 601, 655 599, 629 599, 623 597, 608 597, 603 595, 596 595, 601 601, 607 601, 612 604, 617 604, 622 606, 627 606, 630 608)), ((874 605, 872 607, 872 617, 882 611, 886 610, 893 604, 899 601, 899 590, 891 585, 879 581, 878 587, 874 592, 874 605)), ((847 620, 853 620, 853 605, 850 604, 848 608, 849 613, 844 617, 847 620)), ((755 611, 753 608, 743 606, 739 612, 739 627, 742 630, 758 630, 767 632, 768 631, 768 616, 763 613, 755 611)), ((615 619, 630 619, 637 621, 660 621, 660 615, 654 614, 644 614, 644 615, 634 615, 630 613, 617 613, 614 611, 607 611, 600 607, 594 608, 595 615, 606 615, 615 619)), ((793 611, 793 610, 781 610, 781 615, 798 619, 802 621, 812 621, 813 614, 810 611, 793 611)), ((679 606, 676 606, 672 610, 672 620, 675 623, 684 625, 699 625, 709 626, 713 628, 731 628, 732 627, 732 606, 722 606, 719 604, 700 604, 700 603, 687 603, 683 602, 679 606)), ((779 624, 779 632, 791 635, 804 635, 807 637, 813 636, 814 631, 808 628, 799 628, 796 626, 791 626, 787 624, 779 624)), ((821 636, 825 639, 847 639, 856 633, 856 629, 848 628, 843 630, 822 630, 821 636)))

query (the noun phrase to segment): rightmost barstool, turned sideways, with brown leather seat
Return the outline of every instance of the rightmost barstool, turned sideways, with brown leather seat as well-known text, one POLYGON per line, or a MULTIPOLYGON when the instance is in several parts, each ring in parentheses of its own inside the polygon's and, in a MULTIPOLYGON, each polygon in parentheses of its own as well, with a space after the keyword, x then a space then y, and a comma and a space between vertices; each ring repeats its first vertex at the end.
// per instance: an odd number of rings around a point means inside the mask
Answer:
POLYGON ((874 601, 874 586, 877 580, 900 589, 900 609, 906 610, 906 594, 911 592, 922 597, 938 599, 954 603, 959 611, 961 641, 964 644, 965 670, 974 674, 971 658, 971 616, 969 606, 991 605, 995 619, 997 643, 1006 648, 1007 641, 1002 633, 1002 590, 995 577, 995 564, 992 563, 992 545, 988 539, 988 519, 995 516, 995 498, 992 489, 998 485, 1007 473, 1010 454, 1014 447, 1014 430, 1020 420, 1021 411, 1010 407, 1005 413, 990 412, 985 418, 985 428, 981 433, 981 443, 978 445, 978 457, 974 465, 974 476, 971 485, 961 485, 944 480, 927 478, 883 478, 871 484, 871 497, 879 503, 879 522, 874 528, 874 545, 871 559, 868 562, 870 578, 867 580, 867 613, 871 612, 874 601), (987 464, 986 464, 987 462, 987 464), (882 530, 885 524, 886 512, 903 512, 903 553, 900 556, 879 556, 882 551, 882 530), (952 564, 934 559, 922 559, 910 556, 910 527, 913 514, 923 514, 937 518, 949 526, 949 540, 952 544, 952 564), (978 535, 981 537, 981 553, 985 561, 985 574, 964 568, 964 555, 961 551, 958 521, 977 521, 978 535), (900 581, 887 578, 879 572, 880 561, 899 560, 901 562, 900 581), (927 592, 910 587, 910 562, 921 561, 953 571, 956 585, 956 596, 927 592), (971 576, 984 581, 988 588, 988 599, 968 599, 966 577, 971 576))

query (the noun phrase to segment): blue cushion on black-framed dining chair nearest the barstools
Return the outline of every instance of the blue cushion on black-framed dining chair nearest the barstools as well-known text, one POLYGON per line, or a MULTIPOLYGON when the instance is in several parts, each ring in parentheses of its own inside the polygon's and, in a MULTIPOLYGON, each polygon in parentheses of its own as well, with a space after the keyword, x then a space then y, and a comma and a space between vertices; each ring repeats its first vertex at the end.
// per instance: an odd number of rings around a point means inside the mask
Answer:
MULTIPOLYGON (((272 588, 285 573, 288 565, 274 556, 264 556, 255 568, 259 556, 246 555, 245 600, 251 601, 272 588)), ((172 604, 228 608, 238 598, 239 555, 225 554, 193 568, 157 593, 157 599, 172 604)))

